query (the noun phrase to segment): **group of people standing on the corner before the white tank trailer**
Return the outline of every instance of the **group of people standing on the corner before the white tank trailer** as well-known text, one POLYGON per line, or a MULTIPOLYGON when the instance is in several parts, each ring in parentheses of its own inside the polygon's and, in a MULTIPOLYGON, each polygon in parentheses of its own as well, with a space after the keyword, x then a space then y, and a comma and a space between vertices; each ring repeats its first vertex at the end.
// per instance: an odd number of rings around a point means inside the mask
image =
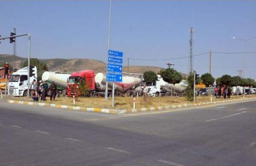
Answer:
MULTIPOLYGON (((31 89, 31 98, 33 101, 43 100, 46 101, 47 91, 48 91, 48 84, 47 81, 42 82, 40 80, 39 82, 36 82, 36 80, 33 80, 32 85, 30 87, 31 89)), ((50 100, 55 100, 56 96, 56 90, 57 86, 54 82, 50 85, 50 100)))

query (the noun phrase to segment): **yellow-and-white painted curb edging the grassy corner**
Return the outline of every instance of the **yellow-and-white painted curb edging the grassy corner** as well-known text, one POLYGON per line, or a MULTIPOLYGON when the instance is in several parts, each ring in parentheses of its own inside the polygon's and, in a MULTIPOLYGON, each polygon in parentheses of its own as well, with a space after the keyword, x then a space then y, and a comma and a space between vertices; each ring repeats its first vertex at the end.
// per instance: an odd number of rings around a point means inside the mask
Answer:
POLYGON ((101 112, 106 114, 131 114, 136 112, 147 112, 147 111, 161 111, 161 110, 174 110, 176 108, 188 108, 193 106, 202 106, 202 105, 209 105, 209 104, 220 104, 220 103, 228 103, 228 102, 238 102, 238 101, 250 101, 256 100, 256 98, 243 98, 243 99, 234 99, 234 100, 222 100, 222 101, 215 101, 215 102, 203 102, 203 103, 195 103, 195 104, 178 104, 178 105, 171 105, 171 106, 158 106, 158 107, 149 107, 149 108, 136 108, 136 109, 128 109, 128 110, 115 110, 115 109, 104 109, 104 108, 88 108, 88 107, 79 107, 79 106, 67 106, 67 105, 60 105, 60 104, 47 104, 47 103, 40 103, 40 102, 27 102, 27 101, 19 101, 19 100, 3 100, 0 102, 8 102, 12 104, 22 104, 28 106, 50 106, 53 108, 64 108, 68 110, 80 110, 86 112, 101 112))

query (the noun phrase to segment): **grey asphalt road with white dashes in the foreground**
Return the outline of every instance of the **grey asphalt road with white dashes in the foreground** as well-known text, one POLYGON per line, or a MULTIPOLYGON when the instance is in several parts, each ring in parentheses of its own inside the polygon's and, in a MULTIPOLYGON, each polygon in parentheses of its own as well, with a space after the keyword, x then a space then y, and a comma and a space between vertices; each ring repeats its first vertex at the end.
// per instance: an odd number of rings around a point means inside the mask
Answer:
POLYGON ((256 166, 256 101, 109 115, 0 102, 1 166, 256 166))

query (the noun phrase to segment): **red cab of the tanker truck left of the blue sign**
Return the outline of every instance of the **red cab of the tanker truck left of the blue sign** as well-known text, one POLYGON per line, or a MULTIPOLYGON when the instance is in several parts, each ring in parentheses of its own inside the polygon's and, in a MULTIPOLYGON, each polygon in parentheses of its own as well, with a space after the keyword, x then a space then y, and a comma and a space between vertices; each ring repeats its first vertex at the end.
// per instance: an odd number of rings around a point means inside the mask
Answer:
POLYGON ((77 89, 82 81, 86 81, 86 83, 88 83, 89 90, 95 90, 94 70, 82 70, 71 74, 68 78, 68 96, 79 95, 74 89, 77 89))

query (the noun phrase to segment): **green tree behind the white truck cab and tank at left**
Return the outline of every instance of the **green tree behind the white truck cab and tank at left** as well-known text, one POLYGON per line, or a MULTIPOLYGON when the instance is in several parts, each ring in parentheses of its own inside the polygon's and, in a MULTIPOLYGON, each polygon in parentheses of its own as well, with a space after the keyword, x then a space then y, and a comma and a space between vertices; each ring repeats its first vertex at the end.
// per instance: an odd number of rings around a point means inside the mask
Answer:
MULTIPOLYGON (((37 73, 38 73, 37 80, 41 80, 43 72, 48 70, 47 65, 43 62, 40 62, 40 60, 38 60, 37 58, 31 58, 30 65, 36 66, 36 68, 37 68, 37 73)), ((28 66, 28 61, 25 61, 22 65, 22 67, 24 68, 27 66, 28 66)))

